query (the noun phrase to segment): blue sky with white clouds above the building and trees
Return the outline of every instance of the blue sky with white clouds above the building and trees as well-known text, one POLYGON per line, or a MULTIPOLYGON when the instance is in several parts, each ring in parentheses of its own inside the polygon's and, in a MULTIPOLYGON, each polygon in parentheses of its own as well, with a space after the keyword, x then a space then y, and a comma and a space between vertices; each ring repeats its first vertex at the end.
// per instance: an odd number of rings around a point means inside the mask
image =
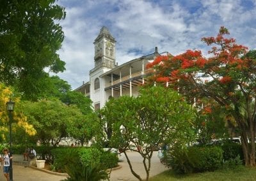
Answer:
POLYGON ((238 44, 256 49, 256 0, 59 0, 67 16, 59 23, 65 40, 58 51, 66 71, 58 73, 72 89, 89 81, 94 45, 106 26, 116 40, 118 65, 143 55, 188 49, 211 49, 202 37, 216 36, 221 26, 238 44))

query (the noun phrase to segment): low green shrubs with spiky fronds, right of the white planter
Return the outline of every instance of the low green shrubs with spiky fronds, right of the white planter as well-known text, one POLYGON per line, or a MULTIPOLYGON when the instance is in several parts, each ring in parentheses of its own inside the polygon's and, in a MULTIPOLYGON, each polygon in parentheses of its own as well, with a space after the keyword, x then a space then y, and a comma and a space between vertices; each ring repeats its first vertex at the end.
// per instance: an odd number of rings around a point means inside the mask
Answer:
POLYGON ((52 153, 54 168, 68 173, 67 180, 108 179, 106 165, 100 163, 102 152, 96 148, 56 148, 52 153))

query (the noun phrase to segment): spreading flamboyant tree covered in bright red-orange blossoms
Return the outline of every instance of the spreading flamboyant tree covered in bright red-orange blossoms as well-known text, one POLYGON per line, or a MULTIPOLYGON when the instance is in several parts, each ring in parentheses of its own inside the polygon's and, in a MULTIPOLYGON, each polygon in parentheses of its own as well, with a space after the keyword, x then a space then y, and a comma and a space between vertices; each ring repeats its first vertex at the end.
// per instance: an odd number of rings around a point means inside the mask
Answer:
POLYGON ((156 69, 151 82, 168 82, 191 101, 209 98, 223 106, 227 116, 236 121, 246 165, 255 166, 256 50, 248 52, 228 34, 227 28, 220 27, 216 37, 202 38, 212 45, 209 57, 200 50, 187 50, 157 57, 147 66, 156 69))

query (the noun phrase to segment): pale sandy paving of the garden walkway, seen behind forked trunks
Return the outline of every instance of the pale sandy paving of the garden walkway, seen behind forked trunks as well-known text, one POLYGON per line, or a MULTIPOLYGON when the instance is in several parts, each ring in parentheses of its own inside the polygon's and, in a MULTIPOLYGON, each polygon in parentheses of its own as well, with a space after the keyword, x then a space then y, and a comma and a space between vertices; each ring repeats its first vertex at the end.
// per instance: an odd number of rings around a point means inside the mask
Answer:
MULTIPOLYGON (((131 163, 134 167, 134 171, 141 175, 143 179, 146 178, 146 173, 142 164, 142 158, 137 152, 128 152, 128 156, 131 158, 131 163)), ((36 170, 35 168, 30 168, 27 166, 26 162, 22 161, 22 156, 13 157, 13 180, 14 181, 60 181, 67 178, 66 176, 52 175, 50 173, 45 173, 44 171, 36 170), (15 158, 16 157, 16 158, 15 158)), ((122 162, 119 163, 121 168, 118 170, 111 171, 111 181, 124 180, 133 181, 138 180, 131 173, 129 165, 124 158, 122 162)), ((1 166, 0 171, 0 181, 6 180, 3 175, 3 166, 1 166)), ((150 170, 150 177, 157 175, 158 173, 167 170, 163 164, 160 163, 157 152, 154 152, 152 157, 152 164, 150 170)))

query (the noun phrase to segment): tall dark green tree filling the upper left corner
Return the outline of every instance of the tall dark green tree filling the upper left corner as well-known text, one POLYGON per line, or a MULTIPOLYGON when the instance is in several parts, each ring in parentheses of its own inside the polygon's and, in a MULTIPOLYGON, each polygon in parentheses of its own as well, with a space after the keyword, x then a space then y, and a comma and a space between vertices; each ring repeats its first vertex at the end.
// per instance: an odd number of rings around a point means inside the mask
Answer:
POLYGON ((0 1, 0 81, 15 85, 28 99, 47 91, 45 68, 65 70, 56 53, 64 34, 64 8, 50 1, 0 1))

